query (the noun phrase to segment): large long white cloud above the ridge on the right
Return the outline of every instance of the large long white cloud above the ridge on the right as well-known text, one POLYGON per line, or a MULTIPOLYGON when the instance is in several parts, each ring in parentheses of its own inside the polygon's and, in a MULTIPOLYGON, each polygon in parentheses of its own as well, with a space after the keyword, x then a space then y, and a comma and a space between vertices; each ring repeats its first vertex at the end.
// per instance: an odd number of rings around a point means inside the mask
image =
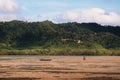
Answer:
POLYGON ((103 25, 120 25, 120 15, 101 8, 70 10, 61 13, 57 22, 96 22, 103 25))

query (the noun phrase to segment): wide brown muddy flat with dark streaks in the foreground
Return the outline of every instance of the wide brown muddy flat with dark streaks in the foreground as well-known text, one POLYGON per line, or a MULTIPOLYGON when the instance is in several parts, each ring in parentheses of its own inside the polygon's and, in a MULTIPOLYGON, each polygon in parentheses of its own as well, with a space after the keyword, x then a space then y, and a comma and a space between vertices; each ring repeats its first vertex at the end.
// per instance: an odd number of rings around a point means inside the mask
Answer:
POLYGON ((120 57, 0 56, 0 80, 120 80, 120 57))

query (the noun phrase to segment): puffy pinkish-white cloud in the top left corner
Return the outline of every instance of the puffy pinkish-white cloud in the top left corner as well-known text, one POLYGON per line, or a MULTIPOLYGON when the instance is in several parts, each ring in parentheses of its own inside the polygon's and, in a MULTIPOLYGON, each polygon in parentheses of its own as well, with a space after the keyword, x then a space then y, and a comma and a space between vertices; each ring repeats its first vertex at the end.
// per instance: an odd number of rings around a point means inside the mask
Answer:
POLYGON ((16 3, 15 0, 0 0, 0 11, 13 12, 18 7, 19 5, 16 3))

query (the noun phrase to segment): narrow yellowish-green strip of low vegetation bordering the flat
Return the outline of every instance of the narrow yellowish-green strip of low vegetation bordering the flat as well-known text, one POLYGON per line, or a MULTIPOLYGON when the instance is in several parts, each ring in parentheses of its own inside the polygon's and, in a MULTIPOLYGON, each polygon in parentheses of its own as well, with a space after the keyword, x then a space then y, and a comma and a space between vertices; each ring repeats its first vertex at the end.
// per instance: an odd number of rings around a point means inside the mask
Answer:
POLYGON ((0 55, 115 55, 120 56, 120 50, 106 49, 2 49, 0 55))

